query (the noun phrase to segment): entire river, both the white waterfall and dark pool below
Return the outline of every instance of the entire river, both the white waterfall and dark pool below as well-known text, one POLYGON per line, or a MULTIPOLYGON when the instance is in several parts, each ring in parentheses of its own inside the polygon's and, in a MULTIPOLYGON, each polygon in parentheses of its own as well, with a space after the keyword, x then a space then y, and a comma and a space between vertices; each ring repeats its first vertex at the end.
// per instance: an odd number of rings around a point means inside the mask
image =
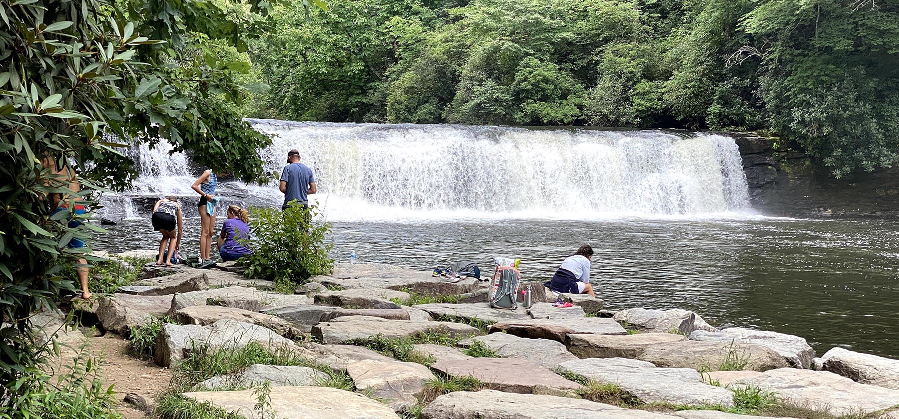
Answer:
MULTIPOLYGON (((423 137, 421 126, 260 125, 279 134, 263 152, 272 170, 299 144, 319 176, 335 259, 354 251, 360 261, 430 270, 458 259, 489 266, 502 255, 521 257, 525 278, 548 280, 589 244, 607 308, 688 308, 713 325, 797 334, 819 355, 842 346, 899 358, 895 221, 765 217, 748 204, 729 138, 451 126, 425 126, 423 137), (526 161, 515 169, 522 174, 490 169, 498 155, 514 157, 503 165, 526 161)), ((147 202, 157 196, 178 194, 193 206, 182 156, 136 153, 141 179, 104 198, 119 221, 98 248, 155 245, 147 202)), ((221 194, 243 205, 280 199, 273 185, 224 183, 221 194)), ((196 254, 199 218, 189 213, 186 222, 183 248, 196 254)))

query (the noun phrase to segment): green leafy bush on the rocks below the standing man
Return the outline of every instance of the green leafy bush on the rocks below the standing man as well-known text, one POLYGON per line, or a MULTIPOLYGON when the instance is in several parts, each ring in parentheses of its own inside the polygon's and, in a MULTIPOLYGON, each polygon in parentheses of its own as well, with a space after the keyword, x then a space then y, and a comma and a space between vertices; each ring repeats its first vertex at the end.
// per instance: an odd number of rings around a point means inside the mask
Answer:
POLYGON ((314 207, 293 205, 283 211, 253 208, 250 214, 253 241, 249 245, 253 254, 241 260, 246 266, 245 277, 279 282, 283 291, 332 272, 334 259, 328 253, 334 244, 325 242, 331 223, 313 221, 317 215, 314 207))

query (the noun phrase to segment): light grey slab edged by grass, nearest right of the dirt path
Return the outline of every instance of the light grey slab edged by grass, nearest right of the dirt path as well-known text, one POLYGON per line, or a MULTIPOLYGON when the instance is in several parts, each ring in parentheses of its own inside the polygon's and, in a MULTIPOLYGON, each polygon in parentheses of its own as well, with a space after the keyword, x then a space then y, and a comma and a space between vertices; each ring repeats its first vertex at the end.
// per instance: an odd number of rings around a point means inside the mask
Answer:
POLYGON ((202 381, 195 389, 253 388, 266 381, 271 387, 315 386, 325 378, 324 372, 309 367, 253 364, 245 370, 202 381))

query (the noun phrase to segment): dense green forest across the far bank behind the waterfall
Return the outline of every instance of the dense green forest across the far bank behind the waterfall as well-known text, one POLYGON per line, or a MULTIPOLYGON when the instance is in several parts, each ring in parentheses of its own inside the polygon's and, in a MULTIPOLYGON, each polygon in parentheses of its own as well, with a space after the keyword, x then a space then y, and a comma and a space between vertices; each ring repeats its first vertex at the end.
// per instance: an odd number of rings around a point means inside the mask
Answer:
POLYGON ((895 164, 899 2, 331 0, 250 45, 289 120, 767 130, 895 164))

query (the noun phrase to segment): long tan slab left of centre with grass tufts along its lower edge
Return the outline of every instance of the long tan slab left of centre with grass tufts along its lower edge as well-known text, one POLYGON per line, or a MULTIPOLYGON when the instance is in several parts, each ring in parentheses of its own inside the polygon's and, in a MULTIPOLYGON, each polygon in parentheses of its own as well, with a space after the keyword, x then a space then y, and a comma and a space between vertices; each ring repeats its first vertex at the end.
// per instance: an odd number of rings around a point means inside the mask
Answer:
POLYGON ((440 332, 458 337, 481 333, 476 327, 461 323, 415 322, 369 316, 337 317, 330 322, 312 326, 312 336, 321 343, 342 343, 378 334, 388 338, 402 338, 424 332, 440 332))

